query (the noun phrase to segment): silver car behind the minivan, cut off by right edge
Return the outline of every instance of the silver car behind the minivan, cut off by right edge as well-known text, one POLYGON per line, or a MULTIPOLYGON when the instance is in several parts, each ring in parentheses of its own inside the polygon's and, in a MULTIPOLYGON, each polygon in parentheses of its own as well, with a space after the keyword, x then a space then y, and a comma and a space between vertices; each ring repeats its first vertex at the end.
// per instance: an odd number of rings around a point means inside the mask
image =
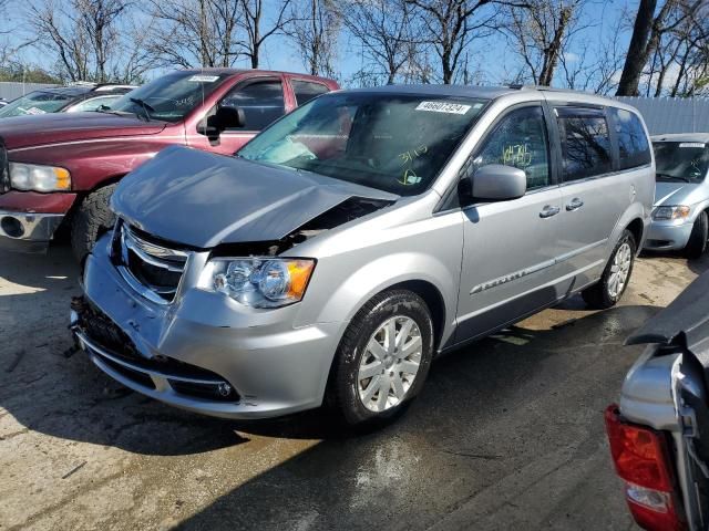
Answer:
POLYGON ((653 137, 655 210, 645 249, 699 258, 709 238, 709 134, 653 137))

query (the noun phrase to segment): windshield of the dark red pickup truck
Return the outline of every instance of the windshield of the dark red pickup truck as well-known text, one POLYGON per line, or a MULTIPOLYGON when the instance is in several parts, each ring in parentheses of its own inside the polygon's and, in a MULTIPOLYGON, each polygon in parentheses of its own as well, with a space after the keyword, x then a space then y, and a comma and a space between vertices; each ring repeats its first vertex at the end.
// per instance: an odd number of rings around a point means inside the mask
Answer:
POLYGON ((129 92, 111 104, 111 111, 148 119, 181 122, 230 75, 173 72, 129 92))

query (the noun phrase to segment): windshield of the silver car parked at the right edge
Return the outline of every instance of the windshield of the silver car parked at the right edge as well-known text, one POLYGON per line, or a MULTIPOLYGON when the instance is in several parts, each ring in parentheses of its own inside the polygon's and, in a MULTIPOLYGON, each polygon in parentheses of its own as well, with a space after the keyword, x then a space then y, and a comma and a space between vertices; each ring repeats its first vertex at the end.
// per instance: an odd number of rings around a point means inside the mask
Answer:
POLYGON ((701 183, 709 169, 709 149, 703 142, 656 142, 658 183, 701 183))

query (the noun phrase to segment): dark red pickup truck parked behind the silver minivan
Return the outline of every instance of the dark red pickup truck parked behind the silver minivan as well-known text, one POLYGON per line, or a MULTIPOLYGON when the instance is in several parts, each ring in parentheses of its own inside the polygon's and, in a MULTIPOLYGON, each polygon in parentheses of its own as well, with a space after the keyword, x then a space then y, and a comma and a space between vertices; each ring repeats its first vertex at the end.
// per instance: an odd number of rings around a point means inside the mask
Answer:
POLYGON ((335 81, 257 70, 172 72, 96 113, 0 123, 0 247, 42 252, 60 226, 82 259, 111 227, 116 183, 173 144, 233 154, 335 81))

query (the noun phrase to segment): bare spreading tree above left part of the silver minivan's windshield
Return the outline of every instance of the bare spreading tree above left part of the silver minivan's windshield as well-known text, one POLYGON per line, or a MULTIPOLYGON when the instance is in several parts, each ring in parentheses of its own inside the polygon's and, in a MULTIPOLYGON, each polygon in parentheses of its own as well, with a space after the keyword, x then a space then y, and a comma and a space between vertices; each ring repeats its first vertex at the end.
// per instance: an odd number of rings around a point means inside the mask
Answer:
POLYGON ((342 2, 340 17, 366 64, 360 75, 391 84, 417 69, 420 42, 414 38, 412 7, 405 0, 351 0, 342 2), (400 75, 402 74, 402 75, 400 75))

